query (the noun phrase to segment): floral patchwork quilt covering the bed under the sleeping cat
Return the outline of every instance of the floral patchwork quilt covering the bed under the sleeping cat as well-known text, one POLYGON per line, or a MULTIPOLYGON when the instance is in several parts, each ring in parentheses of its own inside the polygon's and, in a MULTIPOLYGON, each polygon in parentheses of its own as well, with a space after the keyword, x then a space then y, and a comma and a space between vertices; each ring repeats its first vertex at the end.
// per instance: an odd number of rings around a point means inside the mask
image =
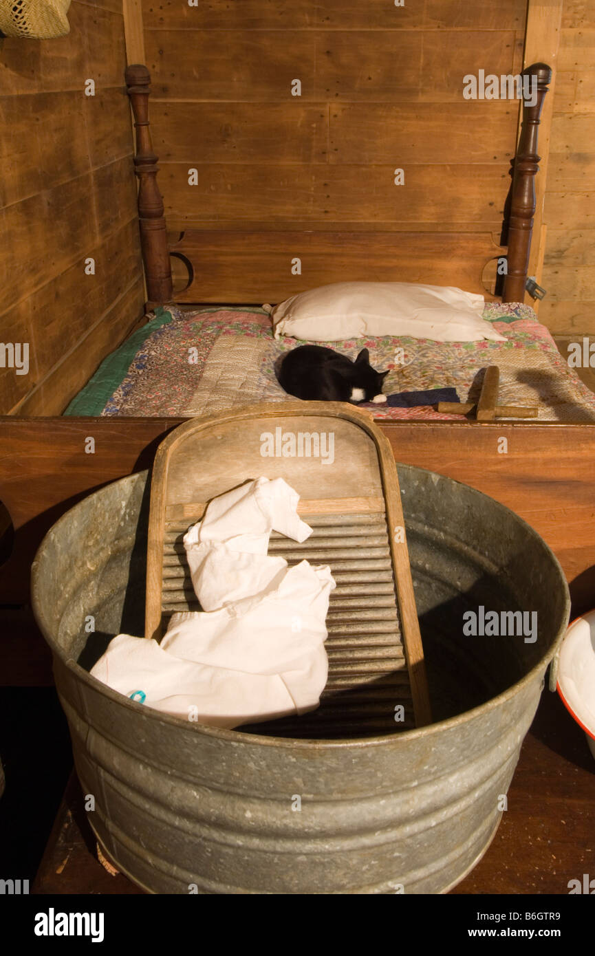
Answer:
MULTIPOLYGON (((364 337, 325 344, 352 359, 368 348, 372 364, 390 370, 387 395, 453 387, 461 402, 476 401, 483 370, 496 364, 501 403, 537 405, 542 422, 595 422, 595 395, 568 368, 530 306, 490 303, 483 317, 505 342, 364 337)), ((283 402, 291 396, 276 381, 275 364, 298 344, 303 342, 275 338, 261 309, 170 306, 105 359, 65 414, 191 417, 253 402, 283 402)), ((380 421, 456 417, 422 405, 360 407, 380 421)))

